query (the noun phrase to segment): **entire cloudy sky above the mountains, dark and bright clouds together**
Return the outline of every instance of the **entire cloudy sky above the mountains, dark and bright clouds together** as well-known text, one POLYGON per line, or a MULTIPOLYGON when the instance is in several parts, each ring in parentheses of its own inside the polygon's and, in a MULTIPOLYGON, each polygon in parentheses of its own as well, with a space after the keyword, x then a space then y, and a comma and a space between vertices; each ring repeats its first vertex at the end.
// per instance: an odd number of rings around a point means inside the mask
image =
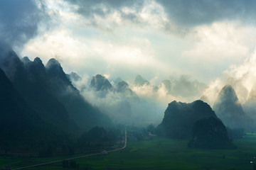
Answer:
POLYGON ((255 8, 250 0, 0 1, 0 38, 21 57, 55 57, 65 72, 131 81, 186 74, 209 84, 254 55, 255 8))

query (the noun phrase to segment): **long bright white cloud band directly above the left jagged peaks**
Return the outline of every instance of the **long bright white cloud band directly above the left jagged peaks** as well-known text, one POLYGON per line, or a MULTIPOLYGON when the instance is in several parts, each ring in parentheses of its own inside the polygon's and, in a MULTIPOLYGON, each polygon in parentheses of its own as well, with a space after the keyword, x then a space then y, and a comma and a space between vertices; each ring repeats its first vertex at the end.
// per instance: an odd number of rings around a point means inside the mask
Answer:
MULTIPOLYGON (((154 55, 154 47, 146 38, 128 38, 126 42, 114 42, 99 38, 78 38, 71 30, 54 30, 30 40, 23 51, 23 56, 41 57, 44 63, 56 58, 70 72, 92 74, 116 74, 119 69, 134 70, 163 69, 164 64, 154 55)), ((119 75, 118 75, 119 74, 119 75)))

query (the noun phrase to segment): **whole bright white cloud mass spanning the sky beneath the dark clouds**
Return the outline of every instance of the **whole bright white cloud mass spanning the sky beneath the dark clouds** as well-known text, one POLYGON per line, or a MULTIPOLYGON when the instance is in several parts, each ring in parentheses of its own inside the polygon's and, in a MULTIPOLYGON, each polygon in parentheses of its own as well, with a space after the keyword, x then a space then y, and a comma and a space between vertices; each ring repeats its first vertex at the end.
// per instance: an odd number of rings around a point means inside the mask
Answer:
POLYGON ((255 26, 239 21, 218 21, 176 35, 180 26, 156 1, 145 1, 139 9, 102 3, 96 7, 105 15, 95 12, 88 17, 75 12, 79 6, 46 2, 53 26, 31 39, 21 54, 41 57, 43 62, 55 57, 68 72, 107 74, 110 79, 127 79, 128 74, 132 79, 137 74, 162 79, 178 72, 209 81, 255 48, 255 26))

